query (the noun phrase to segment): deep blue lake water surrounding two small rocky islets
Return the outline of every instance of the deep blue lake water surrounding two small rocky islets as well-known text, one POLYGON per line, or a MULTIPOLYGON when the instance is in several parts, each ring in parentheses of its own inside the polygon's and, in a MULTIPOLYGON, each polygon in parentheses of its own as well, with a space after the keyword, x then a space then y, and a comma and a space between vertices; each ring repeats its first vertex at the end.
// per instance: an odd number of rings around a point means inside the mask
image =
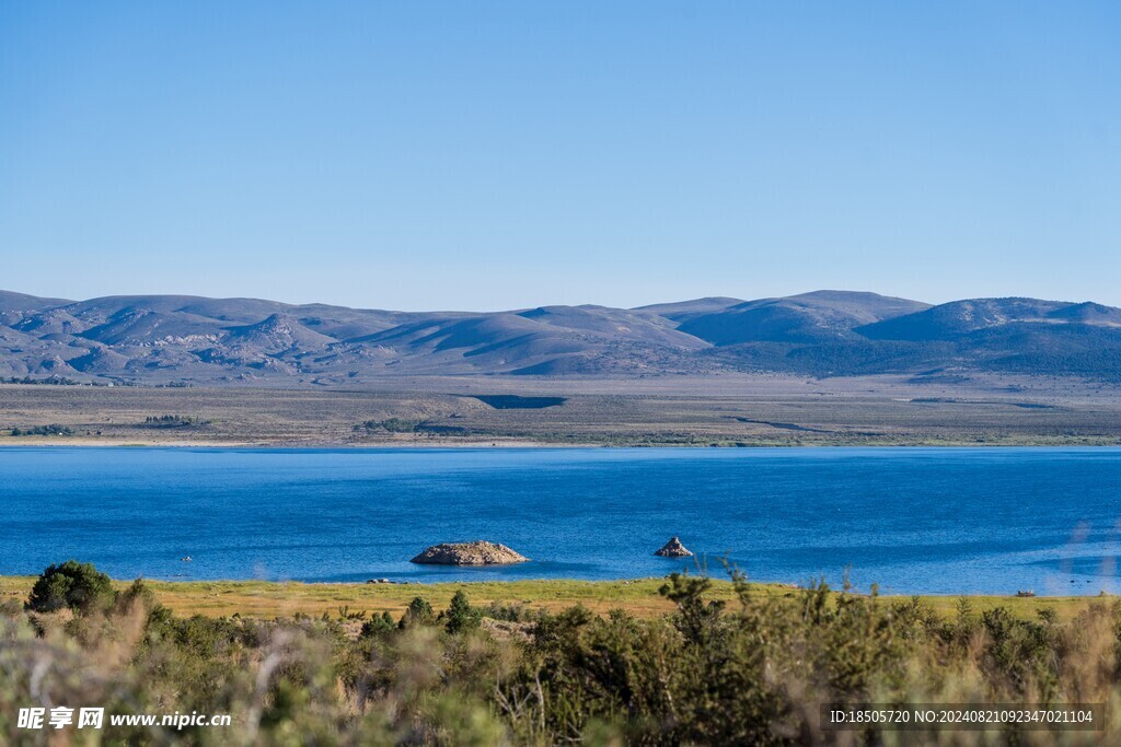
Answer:
POLYGON ((445 581, 720 571, 1118 591, 1121 449, 0 449, 0 573, 445 581), (532 562, 415 566, 488 539, 532 562), (179 559, 191 555, 187 563, 179 559))

